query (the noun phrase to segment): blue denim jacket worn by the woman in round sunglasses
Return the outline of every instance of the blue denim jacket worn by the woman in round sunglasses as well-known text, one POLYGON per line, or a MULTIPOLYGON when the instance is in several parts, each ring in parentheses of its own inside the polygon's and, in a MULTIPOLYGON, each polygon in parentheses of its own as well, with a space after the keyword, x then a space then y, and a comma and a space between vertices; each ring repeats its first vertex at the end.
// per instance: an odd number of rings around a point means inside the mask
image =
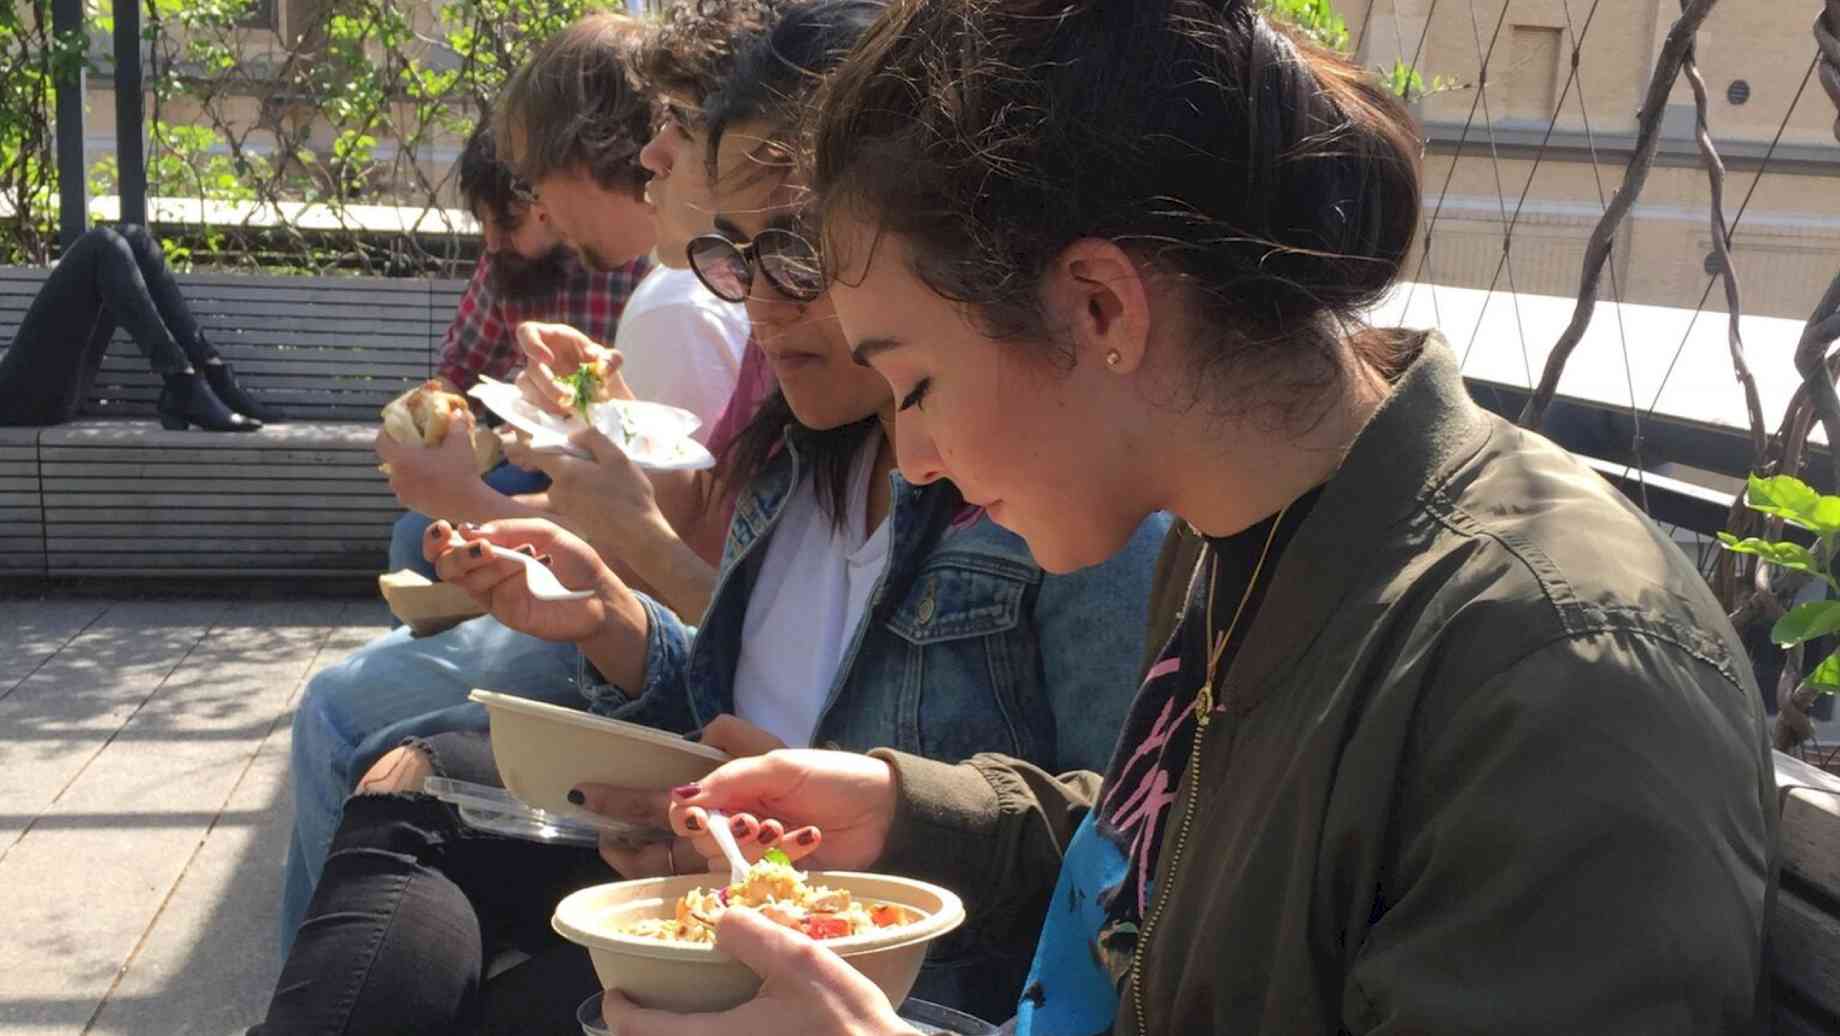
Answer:
MULTIPOLYGON (((800 438, 789 434, 742 495, 701 629, 640 596, 651 618, 640 694, 629 699, 583 666, 580 686, 596 712, 688 732, 734 710, 747 598, 804 477, 800 438)), ((1104 771, 1137 688, 1168 517, 1148 519, 1104 565, 1049 576, 1019 535, 966 510, 949 484, 892 480, 889 569, 813 743, 949 762, 1003 753, 1049 773, 1104 771)), ((1036 935, 968 926, 935 946, 914 996, 1008 1018, 1036 935)))

